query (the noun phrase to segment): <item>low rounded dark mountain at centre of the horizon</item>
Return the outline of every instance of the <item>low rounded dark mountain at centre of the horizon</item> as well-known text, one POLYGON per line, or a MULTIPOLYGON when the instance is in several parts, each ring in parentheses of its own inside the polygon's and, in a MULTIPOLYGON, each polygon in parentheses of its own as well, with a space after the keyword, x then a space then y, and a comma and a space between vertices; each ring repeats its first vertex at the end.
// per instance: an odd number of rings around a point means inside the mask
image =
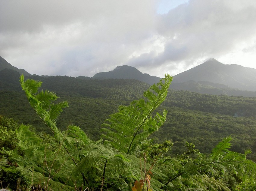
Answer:
POLYGON ((150 76, 147 73, 142 73, 132 66, 117 66, 114 70, 109 72, 96 73, 93 79, 137 79, 148 84, 158 83, 161 78, 150 76))

